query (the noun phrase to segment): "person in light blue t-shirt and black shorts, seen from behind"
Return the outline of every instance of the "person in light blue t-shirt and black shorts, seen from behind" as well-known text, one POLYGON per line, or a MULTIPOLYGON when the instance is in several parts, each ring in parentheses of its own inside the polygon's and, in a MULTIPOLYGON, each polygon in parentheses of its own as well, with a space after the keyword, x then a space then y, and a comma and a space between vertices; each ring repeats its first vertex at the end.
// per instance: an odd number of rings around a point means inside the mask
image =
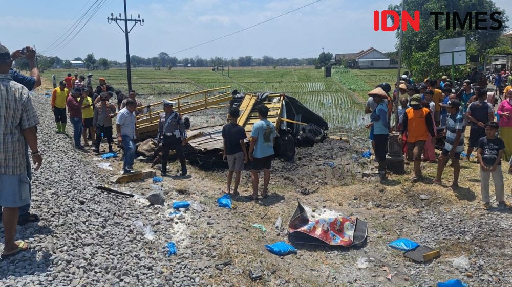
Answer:
POLYGON ((255 123, 251 132, 251 145, 249 159, 252 161, 252 200, 258 200, 258 174, 263 170, 263 198, 268 197, 268 183, 270 182, 270 165, 274 158, 275 126, 268 121, 268 107, 258 106, 260 122, 255 123))

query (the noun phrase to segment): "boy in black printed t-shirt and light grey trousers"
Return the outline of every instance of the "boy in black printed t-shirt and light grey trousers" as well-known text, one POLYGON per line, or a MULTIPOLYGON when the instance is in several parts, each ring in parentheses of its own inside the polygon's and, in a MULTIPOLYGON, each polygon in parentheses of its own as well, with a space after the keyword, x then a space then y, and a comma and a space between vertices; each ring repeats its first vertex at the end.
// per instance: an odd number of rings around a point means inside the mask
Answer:
POLYGON ((499 129, 496 122, 485 125, 485 137, 478 140, 478 162, 480 163, 480 190, 482 193, 483 208, 490 208, 489 179, 493 176, 498 206, 508 206, 504 199, 503 173, 501 172, 501 157, 505 150, 505 143, 496 137, 499 129))

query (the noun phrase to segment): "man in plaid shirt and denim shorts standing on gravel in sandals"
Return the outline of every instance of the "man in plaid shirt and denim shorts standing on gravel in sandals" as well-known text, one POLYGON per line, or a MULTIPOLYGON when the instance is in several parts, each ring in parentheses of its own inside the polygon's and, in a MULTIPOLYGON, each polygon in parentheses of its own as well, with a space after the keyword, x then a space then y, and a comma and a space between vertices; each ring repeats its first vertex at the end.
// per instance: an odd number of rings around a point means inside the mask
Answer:
POLYGON ((35 170, 42 163, 37 149, 37 113, 28 89, 9 77, 11 66, 11 53, 0 45, 0 205, 5 236, 2 259, 30 248, 28 242, 14 241, 18 208, 30 203, 25 141, 32 151, 35 170))

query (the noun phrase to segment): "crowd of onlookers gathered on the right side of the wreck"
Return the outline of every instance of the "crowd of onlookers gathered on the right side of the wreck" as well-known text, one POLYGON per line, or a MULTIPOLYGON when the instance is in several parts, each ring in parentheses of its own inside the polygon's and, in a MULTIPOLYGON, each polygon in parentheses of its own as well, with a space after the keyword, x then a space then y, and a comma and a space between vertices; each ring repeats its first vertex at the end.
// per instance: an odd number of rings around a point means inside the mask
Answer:
POLYGON ((502 79, 506 79, 501 102, 495 91, 488 89, 487 82, 479 77, 473 77, 475 82, 465 80, 461 88, 455 89, 446 76, 415 84, 406 72, 395 85, 392 95, 388 83, 377 85, 368 92, 366 113, 370 114, 371 121, 366 127, 370 129, 378 172, 386 175, 388 139, 393 131, 399 134, 406 163, 413 162, 413 182, 423 178, 421 162, 428 161, 437 162, 437 175, 433 183, 441 185, 441 176, 451 160, 454 171, 450 188, 458 188, 460 158, 463 156, 470 161, 476 149, 483 207, 490 207, 490 176, 495 183, 498 205, 509 206, 504 200, 501 160, 509 161, 508 172, 512 173, 512 78, 509 78, 509 71, 502 71, 501 75, 502 79), (393 127, 390 124, 391 115, 397 100, 398 122, 393 127), (463 155, 466 127, 469 136, 466 154, 463 155), (439 138, 444 138, 442 145, 438 145, 439 138), (436 145, 441 149, 437 158, 436 145))

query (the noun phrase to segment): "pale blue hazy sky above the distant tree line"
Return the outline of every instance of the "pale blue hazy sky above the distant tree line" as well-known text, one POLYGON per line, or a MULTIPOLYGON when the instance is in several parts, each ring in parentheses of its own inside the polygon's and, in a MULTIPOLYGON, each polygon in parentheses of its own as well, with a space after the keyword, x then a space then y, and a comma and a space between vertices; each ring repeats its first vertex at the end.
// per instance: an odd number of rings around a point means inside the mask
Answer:
MULTIPOLYGON (((105 0, 87 25, 79 33, 79 28, 72 33, 77 34, 73 40, 65 39, 65 32, 95 1, 6 1, 0 16, 0 42, 10 50, 35 45, 39 53, 62 59, 84 58, 93 53, 97 59, 124 62, 124 35, 115 22, 109 25, 106 19, 111 13, 123 13, 122 0, 105 0)), ((313 1, 127 0, 128 17, 140 14, 144 19, 144 26, 135 26, 129 34, 130 54, 154 57, 166 52, 179 59, 230 59, 246 55, 307 58, 317 57, 322 47, 333 54, 355 53, 369 47, 381 52, 395 50, 394 32, 373 30, 373 11, 386 10, 399 0, 322 0, 254 28, 176 53, 313 1)), ((512 18, 512 0, 495 3, 512 18)))

